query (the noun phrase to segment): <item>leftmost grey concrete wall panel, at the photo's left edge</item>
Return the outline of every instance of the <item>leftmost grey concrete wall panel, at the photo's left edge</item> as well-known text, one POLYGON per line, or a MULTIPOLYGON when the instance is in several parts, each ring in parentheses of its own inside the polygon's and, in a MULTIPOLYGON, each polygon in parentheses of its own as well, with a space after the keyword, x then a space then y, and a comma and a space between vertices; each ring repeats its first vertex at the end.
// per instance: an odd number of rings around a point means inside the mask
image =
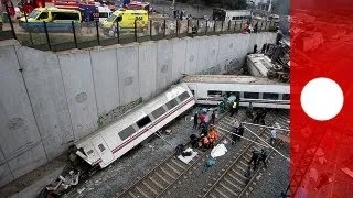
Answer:
POLYGON ((0 147, 1 158, 8 162, 8 165, 1 164, 1 175, 4 176, 1 183, 4 183, 41 166, 47 158, 13 45, 0 47, 0 147), (33 147, 36 148, 35 156, 25 157, 33 147), (11 163, 13 161, 21 164, 11 163))

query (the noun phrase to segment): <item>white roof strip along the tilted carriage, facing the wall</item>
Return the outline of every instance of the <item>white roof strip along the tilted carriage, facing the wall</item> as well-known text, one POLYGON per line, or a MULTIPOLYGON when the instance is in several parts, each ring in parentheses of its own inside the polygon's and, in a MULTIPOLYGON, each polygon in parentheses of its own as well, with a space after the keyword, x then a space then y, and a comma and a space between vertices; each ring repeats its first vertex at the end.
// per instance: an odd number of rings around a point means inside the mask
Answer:
POLYGON ((145 102, 145 103, 131 109, 131 111, 127 112, 126 114, 122 114, 115 122, 113 122, 106 127, 103 127, 103 128, 96 130, 95 132, 86 135, 85 138, 76 141, 75 144, 81 144, 81 143, 89 140, 90 138, 97 135, 98 133, 109 133, 110 131, 116 131, 116 132, 122 131, 124 129, 130 127, 131 124, 133 124, 138 120, 146 117, 145 111, 151 112, 151 111, 156 110, 157 108, 167 103, 169 100, 172 100, 173 98, 175 98, 176 96, 179 96, 180 94, 185 91, 186 89, 184 89, 184 88, 186 88, 186 85, 183 85, 183 84, 171 87, 170 89, 168 89, 167 91, 157 96, 156 98, 149 100, 148 102, 145 102))

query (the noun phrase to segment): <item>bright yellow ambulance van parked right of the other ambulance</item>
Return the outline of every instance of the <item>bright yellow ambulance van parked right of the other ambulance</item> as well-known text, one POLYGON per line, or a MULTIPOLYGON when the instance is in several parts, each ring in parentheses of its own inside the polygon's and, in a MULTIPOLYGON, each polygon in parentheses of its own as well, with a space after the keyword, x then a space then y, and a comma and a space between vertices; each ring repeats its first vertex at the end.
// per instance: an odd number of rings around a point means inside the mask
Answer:
POLYGON ((100 23, 103 29, 111 29, 119 23, 119 29, 148 28, 148 12, 146 10, 126 10, 115 11, 108 19, 100 23))

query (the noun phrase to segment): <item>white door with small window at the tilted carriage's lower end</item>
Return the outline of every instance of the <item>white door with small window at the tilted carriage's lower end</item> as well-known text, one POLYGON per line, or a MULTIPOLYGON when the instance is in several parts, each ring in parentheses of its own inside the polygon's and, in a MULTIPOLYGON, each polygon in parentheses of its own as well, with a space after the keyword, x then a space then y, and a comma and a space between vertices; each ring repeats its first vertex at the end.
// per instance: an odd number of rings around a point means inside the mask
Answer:
POLYGON ((101 135, 93 138, 92 143, 98 152, 104 164, 108 165, 111 161, 114 161, 114 155, 101 135))

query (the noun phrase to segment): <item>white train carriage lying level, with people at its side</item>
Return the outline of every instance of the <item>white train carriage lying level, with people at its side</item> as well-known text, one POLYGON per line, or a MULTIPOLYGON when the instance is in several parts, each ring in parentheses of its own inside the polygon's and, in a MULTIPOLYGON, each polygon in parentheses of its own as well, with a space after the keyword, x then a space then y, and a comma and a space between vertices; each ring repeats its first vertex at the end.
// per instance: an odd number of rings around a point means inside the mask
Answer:
POLYGON ((223 96, 239 96, 240 106, 289 109, 289 84, 268 78, 234 75, 192 75, 181 79, 193 92, 196 103, 217 105, 223 96))

